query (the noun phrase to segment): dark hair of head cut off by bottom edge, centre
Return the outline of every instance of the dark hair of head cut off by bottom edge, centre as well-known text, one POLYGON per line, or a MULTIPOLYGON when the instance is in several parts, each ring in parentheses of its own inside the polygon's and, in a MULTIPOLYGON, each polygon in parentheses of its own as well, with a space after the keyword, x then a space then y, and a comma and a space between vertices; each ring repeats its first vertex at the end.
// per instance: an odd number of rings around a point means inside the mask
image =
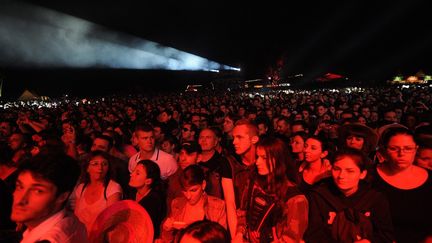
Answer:
POLYGON ((188 225, 180 231, 175 242, 179 243, 186 234, 205 243, 229 242, 228 231, 222 225, 208 220, 196 221, 188 225))

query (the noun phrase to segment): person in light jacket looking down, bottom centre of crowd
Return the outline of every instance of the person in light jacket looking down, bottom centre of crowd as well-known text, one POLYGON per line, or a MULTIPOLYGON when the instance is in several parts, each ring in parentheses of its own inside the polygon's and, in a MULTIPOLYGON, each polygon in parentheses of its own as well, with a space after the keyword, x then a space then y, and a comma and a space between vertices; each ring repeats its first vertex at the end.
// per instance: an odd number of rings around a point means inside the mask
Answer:
POLYGON ((225 202, 205 193, 204 171, 199 165, 188 166, 180 177, 180 184, 183 196, 172 201, 170 215, 162 226, 164 242, 172 242, 179 229, 195 221, 210 220, 227 227, 225 202))

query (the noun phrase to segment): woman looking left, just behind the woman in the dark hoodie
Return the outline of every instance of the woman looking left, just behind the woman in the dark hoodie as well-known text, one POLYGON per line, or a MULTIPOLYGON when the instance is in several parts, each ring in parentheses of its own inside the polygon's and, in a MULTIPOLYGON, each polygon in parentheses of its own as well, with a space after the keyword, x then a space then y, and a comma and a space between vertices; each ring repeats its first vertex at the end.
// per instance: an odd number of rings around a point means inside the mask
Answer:
POLYGON ((304 149, 304 162, 300 165, 297 183, 303 191, 312 188, 314 184, 331 175, 331 165, 327 158, 328 144, 319 136, 306 139, 304 149))

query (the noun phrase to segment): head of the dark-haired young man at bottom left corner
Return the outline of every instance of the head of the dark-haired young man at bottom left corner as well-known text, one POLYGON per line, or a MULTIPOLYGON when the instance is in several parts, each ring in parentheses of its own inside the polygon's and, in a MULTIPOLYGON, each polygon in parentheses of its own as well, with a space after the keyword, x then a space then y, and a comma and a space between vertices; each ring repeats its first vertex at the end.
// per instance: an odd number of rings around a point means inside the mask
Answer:
POLYGON ((64 153, 43 153, 18 170, 11 219, 34 228, 64 208, 80 168, 64 153))

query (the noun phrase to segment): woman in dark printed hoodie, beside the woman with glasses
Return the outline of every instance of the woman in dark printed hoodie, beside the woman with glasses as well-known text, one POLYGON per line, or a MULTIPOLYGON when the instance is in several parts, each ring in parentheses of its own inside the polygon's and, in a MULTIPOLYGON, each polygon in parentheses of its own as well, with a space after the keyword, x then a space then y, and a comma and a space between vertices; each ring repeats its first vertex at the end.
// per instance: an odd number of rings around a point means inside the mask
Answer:
POLYGON ((394 242, 393 227, 388 201, 384 194, 372 189, 363 179, 366 177, 366 157, 355 149, 338 151, 333 162, 331 178, 324 180, 309 193, 309 227, 306 242, 394 242), (338 227, 343 224, 340 214, 352 210, 365 226, 359 232, 338 227), (355 211, 354 211, 355 210, 355 211), (357 214, 358 213, 358 214, 357 214), (370 223, 370 224, 368 224, 370 223), (348 235, 347 238, 346 235, 348 235))

